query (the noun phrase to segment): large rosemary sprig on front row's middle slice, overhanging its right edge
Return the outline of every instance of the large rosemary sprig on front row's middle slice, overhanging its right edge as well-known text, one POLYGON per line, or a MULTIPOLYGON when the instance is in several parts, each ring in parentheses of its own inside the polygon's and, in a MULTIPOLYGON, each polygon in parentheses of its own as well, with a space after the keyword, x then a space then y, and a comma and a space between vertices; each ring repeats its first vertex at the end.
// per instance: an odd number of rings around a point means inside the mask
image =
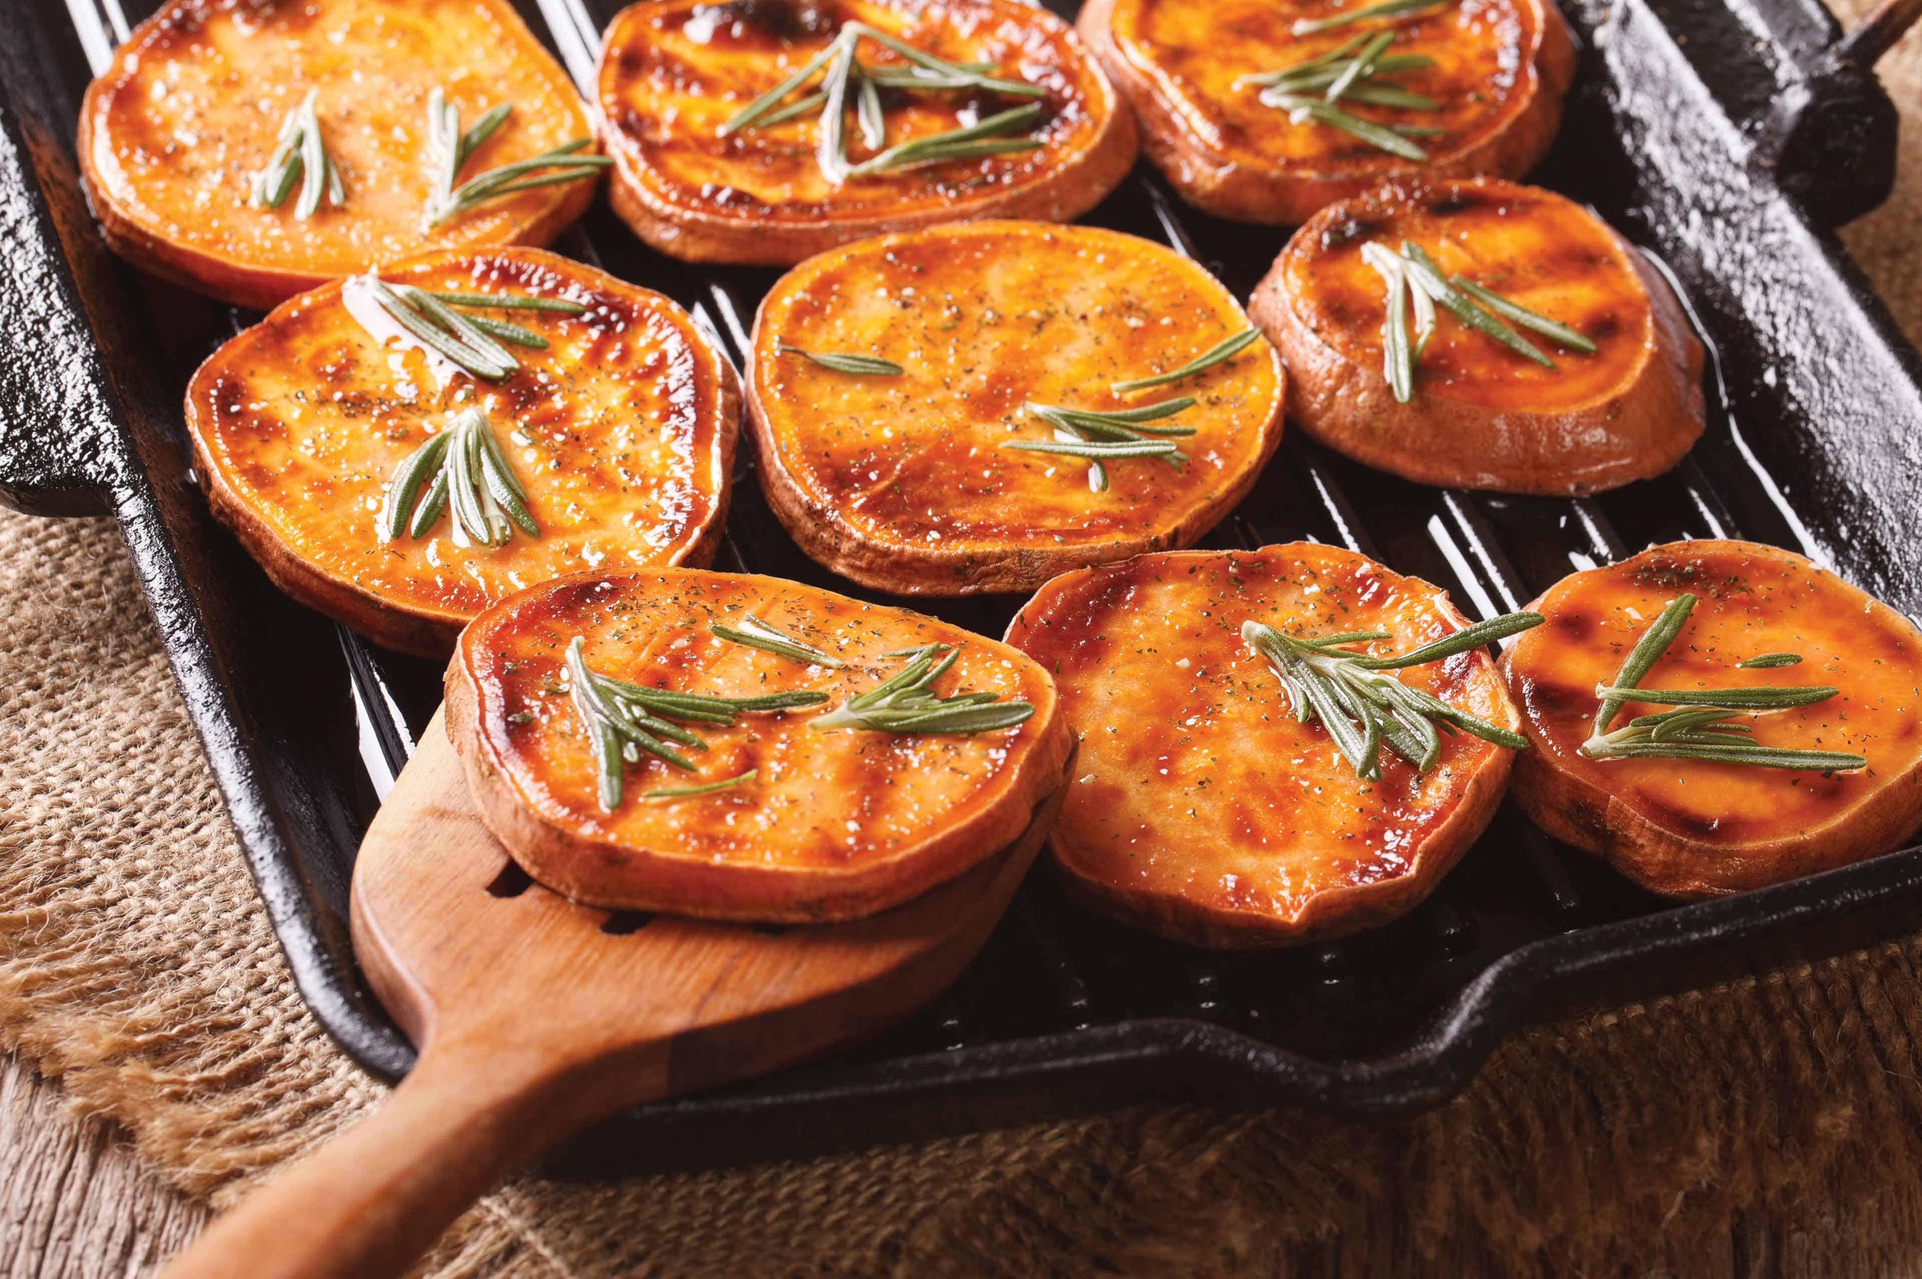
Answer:
POLYGON ((1384 744, 1413 764, 1417 773, 1434 767, 1442 754, 1438 729, 1445 733, 1459 729, 1509 750, 1526 750, 1526 737, 1455 710, 1432 692, 1409 687, 1386 671, 1442 662, 1538 627, 1541 621, 1541 614, 1505 614, 1411 652, 1382 658, 1349 652, 1342 644, 1388 639, 1384 631, 1309 639, 1249 619, 1242 623, 1242 639, 1269 660, 1288 690, 1295 719, 1299 723, 1318 719, 1336 750, 1355 767, 1355 775, 1378 781, 1384 744))

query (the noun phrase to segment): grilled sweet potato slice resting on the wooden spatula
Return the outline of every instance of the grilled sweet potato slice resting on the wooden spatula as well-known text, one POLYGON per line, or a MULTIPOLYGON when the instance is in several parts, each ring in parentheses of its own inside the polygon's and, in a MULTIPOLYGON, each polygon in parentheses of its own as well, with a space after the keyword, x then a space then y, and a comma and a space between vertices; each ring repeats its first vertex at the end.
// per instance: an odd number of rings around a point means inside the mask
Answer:
POLYGON ((1007 846, 1061 785, 1072 735, 1047 671, 959 627, 773 577, 655 569, 580 575, 504 600, 448 665, 448 735, 480 814, 540 883, 594 906, 711 919, 875 914, 1007 846), (840 667, 728 642, 755 621, 840 667), (604 806, 565 654, 594 675, 711 696, 819 690, 811 710, 692 723, 696 771, 653 756, 604 806), (1032 715, 984 733, 819 731, 819 714, 951 644, 936 694, 996 694, 1032 715), (705 794, 650 798, 753 777, 705 794))

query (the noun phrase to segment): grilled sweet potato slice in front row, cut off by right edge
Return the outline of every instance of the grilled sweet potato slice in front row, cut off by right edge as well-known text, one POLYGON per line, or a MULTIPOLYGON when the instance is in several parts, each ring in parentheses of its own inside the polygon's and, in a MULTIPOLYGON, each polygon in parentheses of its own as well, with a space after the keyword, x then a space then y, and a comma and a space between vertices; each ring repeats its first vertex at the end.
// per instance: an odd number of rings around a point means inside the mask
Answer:
MULTIPOLYGON (((1828 569, 1755 542, 1674 542, 1563 579, 1547 623, 1501 665, 1534 744, 1515 800, 1549 835, 1666 896, 1701 898, 1899 848, 1922 827, 1922 633, 1828 569), (1859 754, 1857 771, 1582 754, 1624 654, 1676 596, 1697 596, 1645 689, 1830 685, 1812 706, 1743 717, 1764 746, 1859 754), (1739 667, 1762 654, 1793 665, 1739 667)), ((1666 710, 1630 702, 1611 721, 1666 710)))

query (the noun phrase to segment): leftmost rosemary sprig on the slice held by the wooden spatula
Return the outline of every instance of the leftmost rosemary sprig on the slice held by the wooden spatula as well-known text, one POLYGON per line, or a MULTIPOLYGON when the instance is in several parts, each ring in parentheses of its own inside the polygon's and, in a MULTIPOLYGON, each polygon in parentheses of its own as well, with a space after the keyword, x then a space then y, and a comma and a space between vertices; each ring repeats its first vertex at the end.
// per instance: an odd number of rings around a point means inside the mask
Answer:
POLYGON ((809 690, 773 692, 755 698, 721 698, 698 692, 675 692, 671 689, 650 689, 592 671, 586 664, 584 648, 586 640, 579 635, 567 644, 569 698, 588 731, 588 742, 594 746, 600 802, 607 812, 621 806, 627 765, 638 764, 642 754, 650 754, 682 771, 694 771, 694 762, 667 742, 678 742, 692 750, 707 750, 707 744, 680 725, 669 723, 671 719, 728 727, 744 714, 796 710, 801 706, 819 706, 828 700, 825 692, 809 690))

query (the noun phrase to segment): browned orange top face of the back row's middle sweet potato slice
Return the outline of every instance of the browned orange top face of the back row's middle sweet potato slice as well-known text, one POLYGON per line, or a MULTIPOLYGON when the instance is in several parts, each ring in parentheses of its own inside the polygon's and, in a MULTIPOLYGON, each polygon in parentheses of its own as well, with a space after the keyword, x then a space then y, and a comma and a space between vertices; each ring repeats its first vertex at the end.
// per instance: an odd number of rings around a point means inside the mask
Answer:
MULTIPOLYGON (((859 56, 863 65, 876 69, 909 65, 873 40, 861 42, 859 56)), ((819 87, 821 77, 815 77, 784 104, 819 87)), ((976 90, 884 90, 886 144, 946 133, 1026 102, 976 90)), ((1059 19, 1017 0, 840 0, 805 8, 667 0, 634 4, 609 27, 600 113, 623 177, 648 200, 682 213, 746 219, 778 235, 782 227, 836 219, 967 217, 974 206, 1046 183, 1088 152, 1113 113, 1113 92, 1059 19), (721 133, 736 112, 826 48, 848 21, 863 21, 936 58, 988 62, 1003 79, 1044 87, 1040 123, 1023 137, 1038 137, 1046 146, 836 187, 815 160, 819 110, 776 125, 721 133)), ((850 112, 848 160, 857 163, 873 154, 850 112)), ((1101 194, 1071 192, 1072 212, 1090 208, 1101 194)), ((663 248, 675 252, 673 244, 663 248)), ((750 248, 744 260, 771 258, 750 248)))

